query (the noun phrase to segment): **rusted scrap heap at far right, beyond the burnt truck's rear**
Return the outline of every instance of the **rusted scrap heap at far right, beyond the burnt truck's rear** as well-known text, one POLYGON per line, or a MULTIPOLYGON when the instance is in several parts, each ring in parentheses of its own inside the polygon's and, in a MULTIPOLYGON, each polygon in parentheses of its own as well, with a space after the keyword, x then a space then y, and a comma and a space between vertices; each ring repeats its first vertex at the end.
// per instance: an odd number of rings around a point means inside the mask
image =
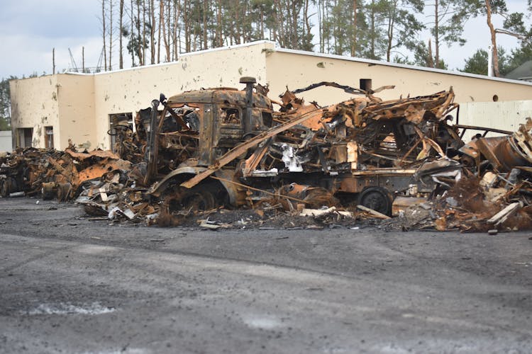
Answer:
POLYGON ((467 128, 484 133, 460 148, 453 160, 456 173, 448 170, 445 181, 440 181, 445 188, 434 198, 436 229, 531 229, 532 120, 527 118, 517 132, 496 137, 486 137, 493 131, 489 128, 467 128))

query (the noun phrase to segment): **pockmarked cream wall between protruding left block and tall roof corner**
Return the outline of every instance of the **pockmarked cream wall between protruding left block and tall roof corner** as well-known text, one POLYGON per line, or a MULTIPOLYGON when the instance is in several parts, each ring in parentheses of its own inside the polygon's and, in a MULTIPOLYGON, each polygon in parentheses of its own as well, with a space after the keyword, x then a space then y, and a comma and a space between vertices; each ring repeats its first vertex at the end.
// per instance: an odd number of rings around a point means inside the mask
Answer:
POLYGON ((120 72, 96 74, 96 139, 98 147, 109 149, 109 114, 133 113, 146 108, 159 93, 175 93, 209 87, 235 87, 240 76, 265 80, 265 47, 271 42, 241 45, 222 50, 205 50, 181 55, 177 62, 120 72))

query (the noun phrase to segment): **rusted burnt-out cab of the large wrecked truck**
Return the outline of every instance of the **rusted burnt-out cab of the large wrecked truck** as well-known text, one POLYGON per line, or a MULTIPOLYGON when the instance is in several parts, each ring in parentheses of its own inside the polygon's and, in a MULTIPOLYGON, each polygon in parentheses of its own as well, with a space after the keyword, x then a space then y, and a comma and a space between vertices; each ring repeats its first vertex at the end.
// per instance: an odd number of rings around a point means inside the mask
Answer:
POLYGON ((167 132, 164 120, 160 122, 160 149, 190 149, 185 141, 194 146, 189 158, 196 159, 196 166, 214 164, 235 145, 272 127, 272 102, 260 93, 252 94, 250 108, 247 93, 237 89, 189 91, 168 98, 162 115, 176 120, 179 129, 167 132))

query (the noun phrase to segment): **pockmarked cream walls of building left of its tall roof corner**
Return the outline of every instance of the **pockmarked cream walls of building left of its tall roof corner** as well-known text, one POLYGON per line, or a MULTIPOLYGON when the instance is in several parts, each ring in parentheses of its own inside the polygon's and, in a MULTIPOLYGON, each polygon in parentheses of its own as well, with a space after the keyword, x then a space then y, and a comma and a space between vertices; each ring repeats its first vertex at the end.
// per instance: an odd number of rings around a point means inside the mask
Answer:
POLYGON ((109 115, 135 113, 159 93, 170 96, 191 89, 240 87, 240 76, 265 81, 268 41, 204 50, 179 56, 177 62, 99 74, 55 74, 10 82, 13 147, 18 129, 32 129, 31 146, 46 147, 45 127, 53 145, 68 140, 88 149, 109 149, 109 115))

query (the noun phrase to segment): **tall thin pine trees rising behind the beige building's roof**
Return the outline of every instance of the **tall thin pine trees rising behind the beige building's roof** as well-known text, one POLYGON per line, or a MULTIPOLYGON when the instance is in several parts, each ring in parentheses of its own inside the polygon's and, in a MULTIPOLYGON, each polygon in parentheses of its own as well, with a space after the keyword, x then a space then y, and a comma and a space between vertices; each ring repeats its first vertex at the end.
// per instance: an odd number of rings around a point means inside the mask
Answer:
MULTIPOLYGON (((527 1, 527 13, 511 13, 504 0, 101 0, 101 67, 170 62, 183 52, 265 39, 284 48, 445 69, 440 48, 463 44, 466 21, 482 16, 494 74, 503 76, 532 52, 527 1), (494 27, 497 16, 503 28, 494 27), (420 40, 421 33, 430 39, 420 40), (499 53, 500 35, 516 36, 520 47, 499 53)), ((464 70, 487 74, 484 54, 480 49, 468 58, 464 70)))

